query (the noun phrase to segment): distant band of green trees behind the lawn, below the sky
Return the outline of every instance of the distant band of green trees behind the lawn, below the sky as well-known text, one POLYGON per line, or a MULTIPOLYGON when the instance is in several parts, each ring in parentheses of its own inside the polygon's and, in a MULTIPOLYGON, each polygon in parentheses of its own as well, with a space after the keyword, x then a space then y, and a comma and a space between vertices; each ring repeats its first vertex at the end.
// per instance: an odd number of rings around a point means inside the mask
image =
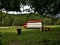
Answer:
POLYGON ((7 14, 0 12, 0 26, 22 26, 28 20, 43 20, 44 25, 60 25, 60 18, 50 18, 40 14, 7 14))

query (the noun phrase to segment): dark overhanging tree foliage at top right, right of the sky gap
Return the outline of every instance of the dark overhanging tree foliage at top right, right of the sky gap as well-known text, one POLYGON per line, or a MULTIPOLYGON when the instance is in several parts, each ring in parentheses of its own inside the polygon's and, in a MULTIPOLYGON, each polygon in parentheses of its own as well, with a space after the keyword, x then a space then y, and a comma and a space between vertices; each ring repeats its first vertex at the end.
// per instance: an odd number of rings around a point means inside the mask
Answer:
POLYGON ((34 12, 42 15, 55 18, 60 13, 60 0, 25 0, 25 3, 34 8, 34 12))

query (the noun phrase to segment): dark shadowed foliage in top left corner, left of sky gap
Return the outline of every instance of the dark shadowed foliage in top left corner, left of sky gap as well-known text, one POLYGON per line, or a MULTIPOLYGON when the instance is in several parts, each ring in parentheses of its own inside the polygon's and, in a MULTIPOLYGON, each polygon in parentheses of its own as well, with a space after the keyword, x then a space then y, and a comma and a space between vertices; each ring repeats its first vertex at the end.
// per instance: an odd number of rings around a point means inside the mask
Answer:
POLYGON ((0 10, 20 11, 20 0, 0 0, 0 10))

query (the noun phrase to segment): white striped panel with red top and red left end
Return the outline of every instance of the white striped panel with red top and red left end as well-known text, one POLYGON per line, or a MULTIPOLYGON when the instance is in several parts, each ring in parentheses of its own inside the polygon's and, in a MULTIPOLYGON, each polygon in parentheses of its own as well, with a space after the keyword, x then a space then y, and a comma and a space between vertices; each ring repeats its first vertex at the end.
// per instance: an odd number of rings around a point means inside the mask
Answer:
POLYGON ((42 28, 41 20, 30 20, 24 24, 25 28, 42 28))

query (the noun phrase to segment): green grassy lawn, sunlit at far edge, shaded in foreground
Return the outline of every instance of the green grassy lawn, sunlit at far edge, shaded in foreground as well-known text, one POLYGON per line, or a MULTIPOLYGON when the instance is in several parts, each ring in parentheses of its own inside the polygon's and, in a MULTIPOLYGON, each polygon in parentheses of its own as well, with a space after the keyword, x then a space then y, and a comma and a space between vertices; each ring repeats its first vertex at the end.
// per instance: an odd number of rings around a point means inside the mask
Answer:
POLYGON ((17 27, 0 28, 2 45, 60 45, 60 26, 48 26, 49 31, 25 29, 20 27, 21 35, 17 35, 17 27))

